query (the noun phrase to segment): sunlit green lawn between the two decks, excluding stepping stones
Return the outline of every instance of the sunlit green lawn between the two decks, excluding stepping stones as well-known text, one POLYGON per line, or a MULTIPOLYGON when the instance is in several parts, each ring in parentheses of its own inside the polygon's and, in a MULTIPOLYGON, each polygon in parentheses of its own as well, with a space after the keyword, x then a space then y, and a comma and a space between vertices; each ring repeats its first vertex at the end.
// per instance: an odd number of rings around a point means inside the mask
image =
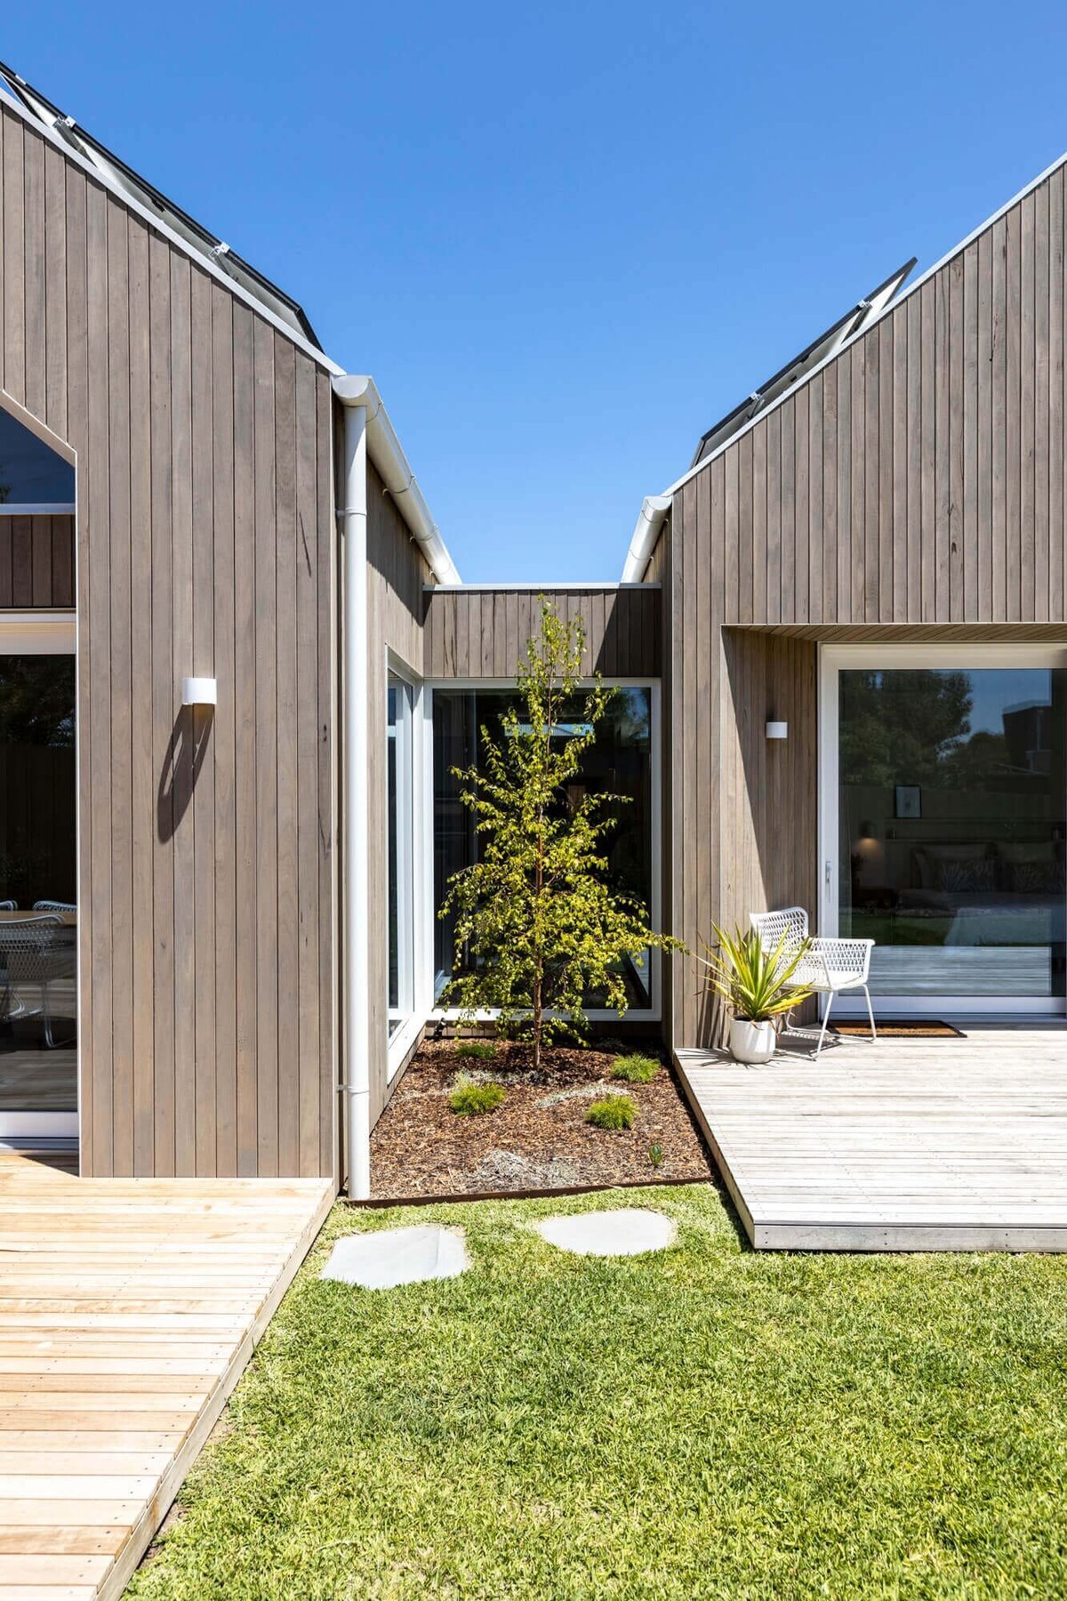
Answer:
POLYGON ((130 1595, 1067 1595, 1067 1260, 753 1255, 709 1186, 338 1207, 130 1595), (651 1204, 654 1257, 530 1228, 651 1204), (462 1225, 461 1279, 318 1282, 462 1225))

